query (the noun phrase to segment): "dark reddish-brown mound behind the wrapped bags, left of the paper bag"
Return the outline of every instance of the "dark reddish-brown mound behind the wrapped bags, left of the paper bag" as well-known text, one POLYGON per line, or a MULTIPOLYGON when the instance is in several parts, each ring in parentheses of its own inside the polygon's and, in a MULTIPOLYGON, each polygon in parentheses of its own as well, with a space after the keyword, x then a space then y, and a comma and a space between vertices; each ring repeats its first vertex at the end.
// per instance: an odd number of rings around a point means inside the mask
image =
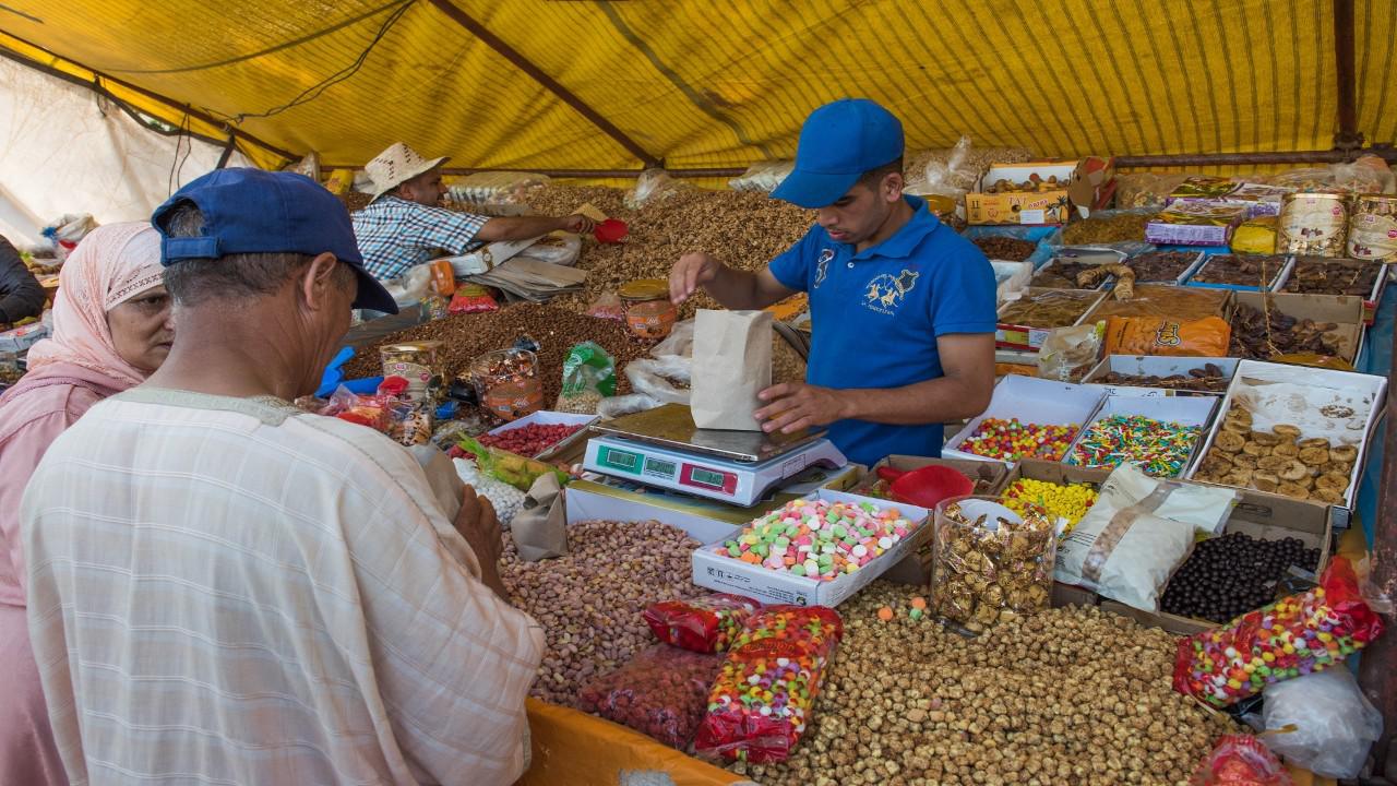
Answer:
MULTIPOLYGON (((379 376, 383 373, 379 347, 437 340, 444 341, 437 357, 447 379, 451 379, 467 371, 472 359, 509 348, 522 334, 532 336, 539 343, 538 375, 543 380, 545 401, 557 399, 563 386, 563 359, 577 343, 601 344, 616 359, 617 371, 648 351, 647 344, 633 338, 626 326, 616 320, 583 316, 553 305, 517 303, 497 312, 451 315, 394 333, 355 352, 345 372, 348 379, 379 376)), ((624 375, 616 375, 616 385, 617 393, 627 392, 624 375)))

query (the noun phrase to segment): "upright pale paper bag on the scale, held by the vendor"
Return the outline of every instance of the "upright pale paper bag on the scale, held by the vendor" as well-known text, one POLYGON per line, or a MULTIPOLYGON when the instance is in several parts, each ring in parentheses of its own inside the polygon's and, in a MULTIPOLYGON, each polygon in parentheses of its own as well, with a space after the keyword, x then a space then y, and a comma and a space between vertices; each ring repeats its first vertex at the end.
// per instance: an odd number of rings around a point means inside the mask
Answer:
POLYGON ((700 310, 694 316, 690 408, 698 428, 761 431, 752 413, 771 387, 771 313, 700 310))

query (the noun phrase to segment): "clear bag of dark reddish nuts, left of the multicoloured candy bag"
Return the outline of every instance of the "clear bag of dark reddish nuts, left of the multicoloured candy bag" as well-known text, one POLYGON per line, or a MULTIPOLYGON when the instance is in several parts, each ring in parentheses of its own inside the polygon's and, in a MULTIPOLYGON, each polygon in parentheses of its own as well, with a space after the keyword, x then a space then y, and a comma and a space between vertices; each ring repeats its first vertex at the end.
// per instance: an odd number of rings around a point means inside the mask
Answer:
POLYGON ((583 685, 577 706, 685 751, 704 717, 721 666, 722 657, 711 652, 655 645, 583 685))

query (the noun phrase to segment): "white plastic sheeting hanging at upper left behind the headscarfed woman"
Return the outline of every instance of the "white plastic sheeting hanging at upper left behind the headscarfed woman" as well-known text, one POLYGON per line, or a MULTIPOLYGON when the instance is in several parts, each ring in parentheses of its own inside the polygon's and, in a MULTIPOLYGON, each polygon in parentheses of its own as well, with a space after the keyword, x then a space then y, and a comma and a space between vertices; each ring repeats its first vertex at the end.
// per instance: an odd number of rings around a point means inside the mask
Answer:
MULTIPOLYGON (((147 220, 222 151, 162 136, 85 87, 0 59, 0 234, 20 246, 64 213, 147 220)), ((235 165, 246 165, 235 155, 235 165)))

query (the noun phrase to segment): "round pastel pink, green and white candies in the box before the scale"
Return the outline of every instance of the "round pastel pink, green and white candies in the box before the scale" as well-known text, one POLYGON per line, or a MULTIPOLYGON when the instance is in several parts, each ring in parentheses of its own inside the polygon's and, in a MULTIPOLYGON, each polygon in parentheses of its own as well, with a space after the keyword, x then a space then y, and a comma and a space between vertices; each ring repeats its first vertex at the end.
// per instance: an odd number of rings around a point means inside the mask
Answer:
POLYGON ((877 559, 914 529, 897 508, 792 499, 715 551, 768 571, 831 582, 877 559))

